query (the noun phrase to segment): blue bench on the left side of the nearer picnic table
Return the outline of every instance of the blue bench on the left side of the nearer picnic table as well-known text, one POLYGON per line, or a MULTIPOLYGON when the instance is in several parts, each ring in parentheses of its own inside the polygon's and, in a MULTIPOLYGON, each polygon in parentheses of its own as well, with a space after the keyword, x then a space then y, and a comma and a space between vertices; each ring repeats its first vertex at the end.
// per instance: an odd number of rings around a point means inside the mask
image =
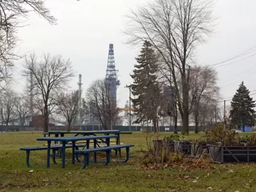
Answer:
MULTIPOLYGON (((62 145, 51 145, 51 149, 52 149, 52 161, 54 164, 56 164, 56 151, 60 150, 60 148, 62 147, 62 145)), ((79 144, 79 145, 76 145, 76 148, 78 147, 84 147, 83 144, 79 144)), ((72 148, 72 145, 66 145, 65 148, 72 148)), ((29 156, 30 156, 30 151, 33 150, 47 150, 47 146, 43 146, 43 147, 21 147, 20 150, 24 150, 26 151, 26 164, 28 167, 33 167, 29 164, 29 156)), ((77 161, 80 161, 77 158, 77 161)))

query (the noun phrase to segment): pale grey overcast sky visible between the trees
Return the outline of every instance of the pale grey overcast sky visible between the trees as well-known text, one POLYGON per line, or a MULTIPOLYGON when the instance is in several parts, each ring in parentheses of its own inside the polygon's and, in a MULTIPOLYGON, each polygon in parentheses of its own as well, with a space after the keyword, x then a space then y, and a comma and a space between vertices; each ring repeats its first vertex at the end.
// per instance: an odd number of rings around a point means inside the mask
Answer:
MULTIPOLYGON (((124 86, 132 82, 129 74, 139 50, 124 44, 125 36, 121 33, 124 29, 123 15, 128 7, 143 2, 145 1, 48 0, 46 4, 52 15, 58 19, 58 25, 51 26, 35 13, 31 13, 26 22, 29 26, 18 31, 18 36, 22 40, 19 45, 20 53, 36 52, 40 56, 44 52, 49 52, 70 58, 76 72, 70 86, 77 89, 78 74, 82 74, 85 91, 93 80, 105 77, 108 46, 113 43, 116 69, 119 70, 118 79, 121 83, 117 90, 118 105, 124 106, 129 97, 129 92, 124 86)), ((256 45, 255 7, 256 1, 253 0, 216 1, 214 15, 219 17, 217 33, 207 41, 207 44, 198 47, 196 61, 200 65, 219 63, 256 45)), ((256 49, 246 56, 255 53, 256 49)), ((241 81, 244 81, 249 90, 256 90, 255 61, 256 55, 237 63, 216 67, 223 98, 232 97, 241 81)), ((19 61, 14 73, 17 79, 15 87, 19 91, 23 86, 19 75, 21 68, 19 61)))

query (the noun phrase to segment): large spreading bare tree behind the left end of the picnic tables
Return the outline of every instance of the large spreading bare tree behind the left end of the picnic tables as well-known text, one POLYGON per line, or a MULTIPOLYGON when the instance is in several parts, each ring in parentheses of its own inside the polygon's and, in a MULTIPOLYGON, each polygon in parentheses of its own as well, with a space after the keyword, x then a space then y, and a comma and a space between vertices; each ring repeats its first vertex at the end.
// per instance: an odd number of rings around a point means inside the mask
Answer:
POLYGON ((44 117, 44 132, 48 132, 49 115, 58 104, 56 95, 67 88, 70 78, 74 76, 71 62, 50 54, 38 60, 35 54, 31 54, 26 58, 24 68, 24 75, 33 77, 34 106, 44 117))

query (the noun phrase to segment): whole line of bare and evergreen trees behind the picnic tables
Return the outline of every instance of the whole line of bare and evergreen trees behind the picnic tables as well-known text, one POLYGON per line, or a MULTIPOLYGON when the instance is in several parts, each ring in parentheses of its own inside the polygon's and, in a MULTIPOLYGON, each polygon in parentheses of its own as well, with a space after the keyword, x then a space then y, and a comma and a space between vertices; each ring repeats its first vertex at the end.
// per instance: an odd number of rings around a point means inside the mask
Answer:
MULTIPOLYGON (((123 32, 127 44, 143 44, 129 85, 134 95, 134 123, 152 122, 157 131, 159 120, 170 117, 175 128, 180 119, 185 132, 189 131, 189 122, 195 122, 198 132, 207 124, 223 120, 218 103, 218 74, 214 68, 196 64, 196 48, 214 33, 211 6, 211 0, 154 0, 132 8, 125 15, 127 26, 123 32)), ((9 86, 13 63, 23 57, 15 52, 19 19, 28 17, 31 11, 56 24, 42 0, 0 3, 2 123, 8 125, 19 116, 20 124, 24 124, 25 116, 38 114, 44 117, 47 132, 49 116, 61 114, 70 130, 81 108, 81 95, 67 86, 74 77, 69 60, 50 54, 37 58, 31 54, 26 57, 22 71, 23 76, 31 78, 29 97, 20 97, 9 86)), ((93 81, 86 90, 86 108, 90 108, 103 129, 111 129, 118 120, 116 103, 109 98, 109 92, 105 79, 93 81)), ((230 110, 230 122, 243 129, 255 124, 255 104, 249 93, 242 83, 230 110)))

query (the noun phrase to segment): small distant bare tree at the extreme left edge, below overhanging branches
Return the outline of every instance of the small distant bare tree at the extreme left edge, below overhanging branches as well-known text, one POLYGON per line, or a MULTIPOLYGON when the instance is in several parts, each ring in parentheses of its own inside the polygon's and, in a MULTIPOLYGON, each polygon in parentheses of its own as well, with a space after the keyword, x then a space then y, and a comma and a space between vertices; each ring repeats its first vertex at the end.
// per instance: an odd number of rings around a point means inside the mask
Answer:
POLYGON ((6 89, 1 95, 1 117, 5 125, 9 125, 15 118, 16 93, 13 90, 6 89))

